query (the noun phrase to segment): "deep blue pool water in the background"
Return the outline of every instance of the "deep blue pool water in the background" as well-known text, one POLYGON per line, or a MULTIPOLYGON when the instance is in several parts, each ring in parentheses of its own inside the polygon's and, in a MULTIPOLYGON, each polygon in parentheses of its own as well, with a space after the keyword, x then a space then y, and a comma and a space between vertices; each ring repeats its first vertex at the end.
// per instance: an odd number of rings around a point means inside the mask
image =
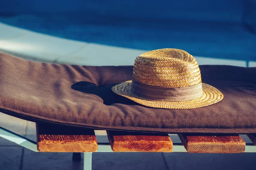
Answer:
POLYGON ((256 34, 243 23, 245 17, 253 18, 246 11, 253 10, 250 4, 245 8, 243 0, 160 0, 157 4, 56 0, 51 6, 49 0, 28 0, 18 6, 11 6, 11 1, 7 8, 0 7, 0 22, 43 34, 117 47, 179 48, 196 56, 256 61, 256 34))

